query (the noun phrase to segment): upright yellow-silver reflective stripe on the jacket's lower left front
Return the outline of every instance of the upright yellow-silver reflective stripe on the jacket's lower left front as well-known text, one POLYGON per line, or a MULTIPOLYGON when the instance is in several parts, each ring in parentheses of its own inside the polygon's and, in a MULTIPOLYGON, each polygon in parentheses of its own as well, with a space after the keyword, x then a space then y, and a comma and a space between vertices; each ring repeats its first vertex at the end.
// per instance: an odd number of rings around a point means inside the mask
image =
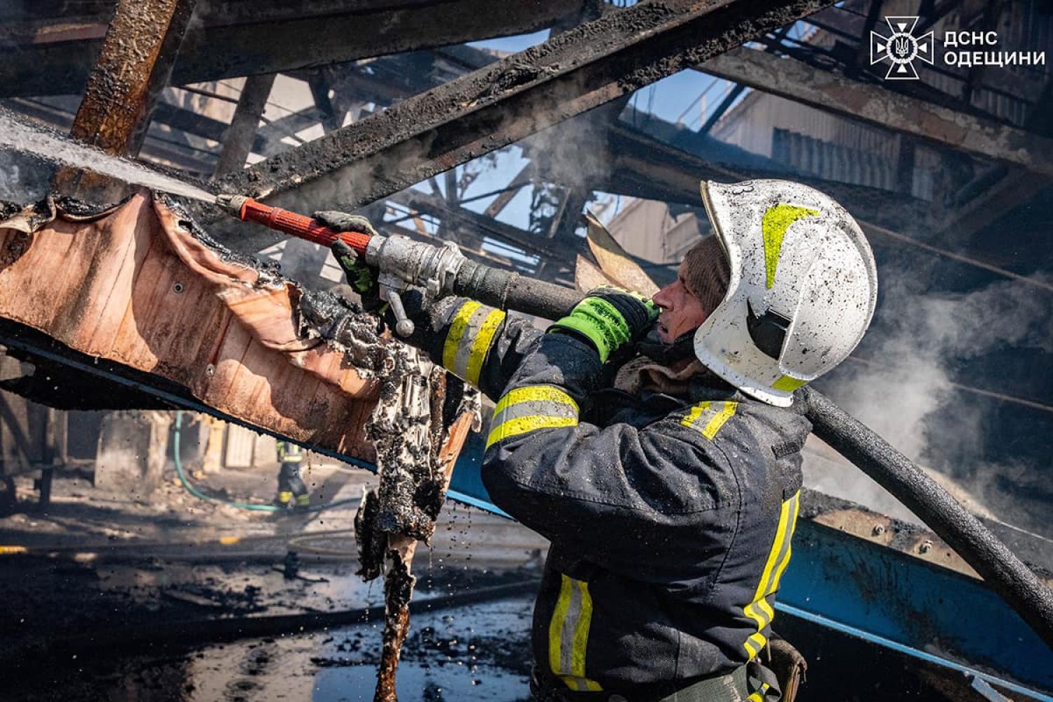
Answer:
POLYGON ((579 691, 601 690, 585 677, 585 647, 592 625, 589 583, 560 574, 559 599, 549 622, 549 668, 567 686, 579 691))

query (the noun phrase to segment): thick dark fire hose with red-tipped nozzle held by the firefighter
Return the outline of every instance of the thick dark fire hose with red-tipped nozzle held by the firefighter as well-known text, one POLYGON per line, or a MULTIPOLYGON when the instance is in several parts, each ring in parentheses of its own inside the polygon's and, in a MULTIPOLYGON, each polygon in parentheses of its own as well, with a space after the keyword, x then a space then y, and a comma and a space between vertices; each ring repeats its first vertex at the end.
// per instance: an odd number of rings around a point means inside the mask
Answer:
MULTIPOLYGON (((582 295, 555 283, 533 280, 468 260, 455 245, 433 245, 406 237, 334 232, 319 222, 251 198, 220 195, 217 204, 243 221, 330 246, 343 240, 379 270, 380 295, 392 307, 396 333, 409 336, 399 293, 414 285, 435 299, 444 295, 545 319, 570 313, 582 295)), ((1020 618, 1053 648, 1053 590, 979 520, 909 458, 818 390, 804 387, 801 400, 812 433, 902 502, 947 542, 1020 618)))

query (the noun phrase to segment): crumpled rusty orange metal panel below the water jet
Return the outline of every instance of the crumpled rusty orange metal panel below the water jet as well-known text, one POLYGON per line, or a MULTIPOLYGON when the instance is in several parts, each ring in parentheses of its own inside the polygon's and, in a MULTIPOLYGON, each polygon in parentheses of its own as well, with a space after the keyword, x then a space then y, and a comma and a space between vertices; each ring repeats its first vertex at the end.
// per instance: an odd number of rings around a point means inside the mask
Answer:
POLYGON ((364 424, 377 385, 298 335, 298 296, 223 259, 146 193, 96 221, 0 229, 0 317, 251 424, 373 460, 364 424))

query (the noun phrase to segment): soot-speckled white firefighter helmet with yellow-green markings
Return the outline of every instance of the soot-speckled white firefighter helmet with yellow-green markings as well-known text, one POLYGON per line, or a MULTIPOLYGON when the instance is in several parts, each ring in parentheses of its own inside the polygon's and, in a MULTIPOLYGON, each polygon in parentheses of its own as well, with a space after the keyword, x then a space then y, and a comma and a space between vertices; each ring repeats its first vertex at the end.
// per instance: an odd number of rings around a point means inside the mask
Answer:
POLYGON ((874 255, 852 216, 822 193, 786 180, 702 182, 728 256, 723 300, 695 333, 716 375, 780 407, 848 358, 874 315, 874 255))

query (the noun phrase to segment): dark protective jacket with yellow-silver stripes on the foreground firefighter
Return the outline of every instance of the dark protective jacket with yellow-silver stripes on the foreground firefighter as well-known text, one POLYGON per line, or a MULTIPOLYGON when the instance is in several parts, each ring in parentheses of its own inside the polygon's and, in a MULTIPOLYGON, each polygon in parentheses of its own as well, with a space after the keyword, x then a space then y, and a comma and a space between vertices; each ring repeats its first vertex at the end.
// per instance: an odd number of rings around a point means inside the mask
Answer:
POLYGON ((543 670, 620 691, 757 656, 790 559, 801 403, 720 381, 636 397, 604 382, 588 343, 460 298, 412 341, 497 400, 483 482, 552 542, 533 625, 543 670))

